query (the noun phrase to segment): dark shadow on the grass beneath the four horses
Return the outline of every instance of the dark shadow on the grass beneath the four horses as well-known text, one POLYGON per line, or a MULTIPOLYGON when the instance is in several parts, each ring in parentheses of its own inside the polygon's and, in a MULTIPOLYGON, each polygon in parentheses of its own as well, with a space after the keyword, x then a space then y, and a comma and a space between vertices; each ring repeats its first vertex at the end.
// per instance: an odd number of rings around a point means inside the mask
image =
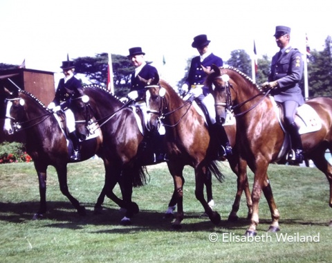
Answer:
MULTIPOLYGON (((239 218, 237 221, 230 222, 227 219, 221 220, 218 225, 212 224, 210 219, 201 212, 185 212, 185 219, 182 222, 182 228, 174 230, 172 228, 172 219, 165 219, 164 212, 155 210, 140 210, 140 212, 131 218, 130 226, 122 226, 120 220, 124 217, 116 206, 104 206, 99 215, 94 213, 94 204, 82 203, 86 207, 86 216, 77 214, 71 203, 66 201, 48 201, 48 212, 44 219, 47 220, 44 227, 50 228, 68 228, 82 229, 86 226, 102 226, 104 229, 88 230, 91 233, 132 233, 137 231, 208 231, 208 232, 239 232, 244 233, 249 226, 248 219, 239 218)), ((39 202, 21 202, 21 203, 2 203, 0 202, 0 220, 9 223, 24 223, 32 221, 33 215, 39 208, 39 202)), ((261 219, 259 228, 266 230, 270 225, 269 219, 261 219)), ((311 225, 327 226, 326 223, 317 223, 313 221, 304 221, 303 219, 286 219, 280 221, 281 225, 311 225)))

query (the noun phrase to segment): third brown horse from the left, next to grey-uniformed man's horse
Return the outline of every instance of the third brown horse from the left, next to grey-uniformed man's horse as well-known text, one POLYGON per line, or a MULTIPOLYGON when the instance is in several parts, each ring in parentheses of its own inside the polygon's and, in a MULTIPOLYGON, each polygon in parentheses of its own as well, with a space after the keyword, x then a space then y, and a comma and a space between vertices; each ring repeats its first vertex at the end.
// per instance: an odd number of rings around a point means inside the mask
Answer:
MULTIPOLYGON (((208 126, 199 112, 192 107, 192 102, 183 100, 178 93, 164 80, 158 83, 151 82, 147 86, 147 111, 149 112, 150 129, 158 129, 160 121, 166 129, 165 141, 167 144, 167 154, 169 162, 167 163, 169 171, 174 177, 176 191, 174 198, 178 203, 178 211, 175 226, 181 226, 183 220, 183 167, 190 165, 194 167, 196 189, 195 195, 205 213, 210 217, 214 224, 221 221, 221 217, 217 212, 211 210, 203 196, 203 180, 206 174, 206 167, 216 161, 216 152, 214 151, 213 140, 210 138, 208 126)), ((235 134, 234 126, 226 128, 230 143, 234 145, 235 134)), ((248 186, 248 178, 246 174, 246 162, 239 161, 237 153, 228 159, 230 166, 238 175, 238 191, 232 206, 232 212, 229 219, 237 219, 237 210, 239 210, 239 202, 243 190, 246 192, 248 215, 251 213, 250 190, 248 186), (238 167, 242 166, 243 173, 238 173, 238 167)), ((218 171, 216 171, 218 172, 218 171)), ((220 177, 217 176, 217 179, 220 177)))

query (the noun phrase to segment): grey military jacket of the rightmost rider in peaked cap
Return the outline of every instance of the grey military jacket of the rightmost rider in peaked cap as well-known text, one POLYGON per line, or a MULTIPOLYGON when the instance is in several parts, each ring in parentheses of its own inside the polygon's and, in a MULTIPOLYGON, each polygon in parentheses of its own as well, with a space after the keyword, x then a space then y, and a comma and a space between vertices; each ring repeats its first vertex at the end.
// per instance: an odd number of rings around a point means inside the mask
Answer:
POLYGON ((299 81, 303 75, 302 54, 296 49, 288 47, 279 57, 279 52, 272 58, 271 73, 268 81, 278 81, 277 89, 271 91, 277 102, 294 100, 299 105, 304 103, 299 81))

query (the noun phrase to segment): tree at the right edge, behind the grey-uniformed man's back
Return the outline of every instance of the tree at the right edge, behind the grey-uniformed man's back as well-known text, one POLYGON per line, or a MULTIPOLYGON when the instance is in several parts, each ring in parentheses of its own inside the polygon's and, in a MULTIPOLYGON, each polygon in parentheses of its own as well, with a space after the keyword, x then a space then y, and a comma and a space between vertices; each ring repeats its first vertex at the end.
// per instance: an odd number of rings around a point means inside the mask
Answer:
POLYGON ((311 51, 308 62, 309 96, 332 95, 332 39, 327 37, 323 51, 311 51))

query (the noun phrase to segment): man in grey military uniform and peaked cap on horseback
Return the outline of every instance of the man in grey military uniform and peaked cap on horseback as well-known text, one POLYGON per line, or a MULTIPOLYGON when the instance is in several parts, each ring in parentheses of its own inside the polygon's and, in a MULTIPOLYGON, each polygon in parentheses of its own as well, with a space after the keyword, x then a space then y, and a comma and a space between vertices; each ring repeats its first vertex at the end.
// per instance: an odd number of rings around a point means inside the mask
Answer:
POLYGON ((299 88, 299 81, 303 75, 303 62, 302 54, 289 44, 290 34, 291 28, 287 26, 275 28, 274 37, 280 51, 273 56, 268 82, 265 82, 262 87, 272 89, 271 95, 284 107, 286 130, 291 136, 293 149, 288 159, 295 163, 302 163, 304 159, 302 140, 294 118, 297 107, 304 104, 302 91, 299 88))

